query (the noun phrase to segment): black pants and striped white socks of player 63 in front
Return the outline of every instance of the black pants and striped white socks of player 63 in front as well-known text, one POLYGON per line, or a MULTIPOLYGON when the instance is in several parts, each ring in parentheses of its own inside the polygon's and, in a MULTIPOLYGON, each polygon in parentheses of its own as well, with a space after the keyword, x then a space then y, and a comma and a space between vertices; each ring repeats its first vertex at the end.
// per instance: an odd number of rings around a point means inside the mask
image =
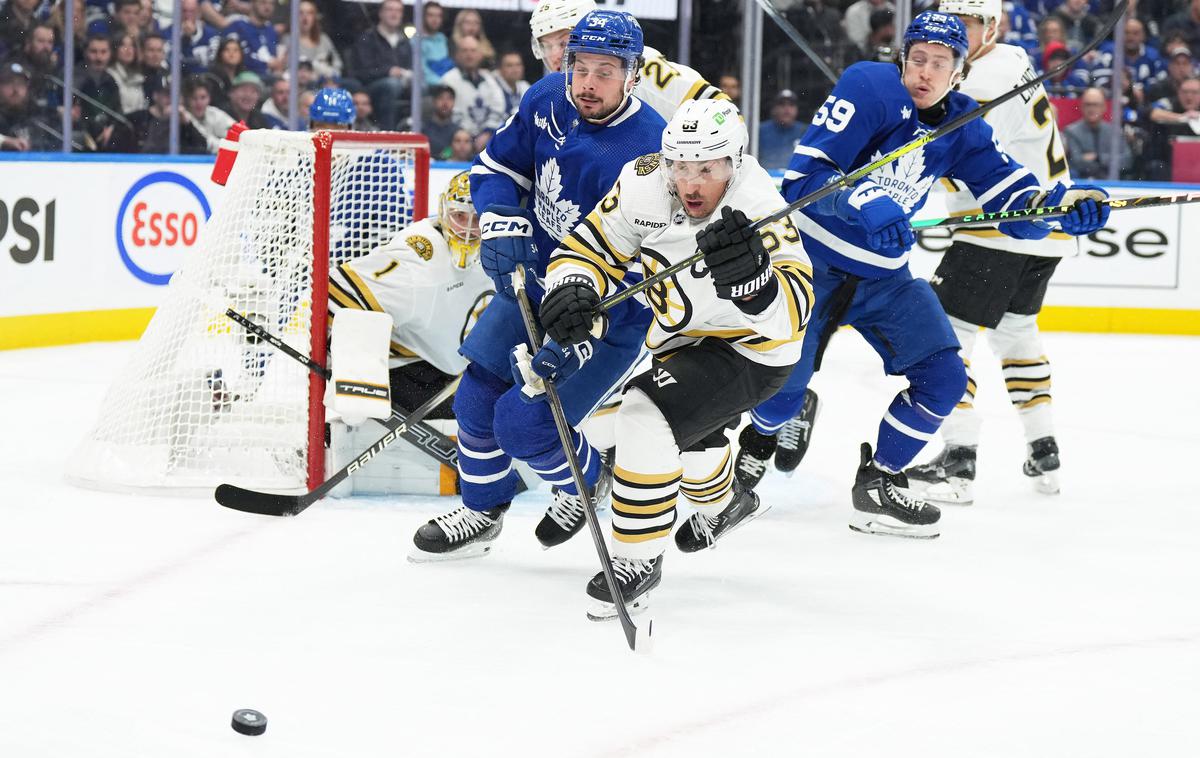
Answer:
POLYGON ((660 555, 680 494, 701 511, 730 504, 734 477, 725 429, 782 386, 787 373, 709 338, 655 357, 630 383, 617 411, 613 555, 660 555))

